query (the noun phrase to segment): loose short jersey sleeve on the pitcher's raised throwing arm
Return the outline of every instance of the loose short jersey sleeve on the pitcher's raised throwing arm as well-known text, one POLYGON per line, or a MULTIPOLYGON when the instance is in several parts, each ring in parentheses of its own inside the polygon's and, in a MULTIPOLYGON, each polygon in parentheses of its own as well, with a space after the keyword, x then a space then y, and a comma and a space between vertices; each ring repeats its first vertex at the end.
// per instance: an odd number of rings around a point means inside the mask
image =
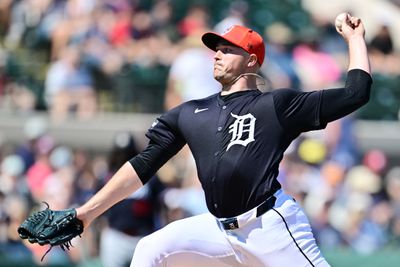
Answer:
POLYGON ((278 89, 272 94, 279 122, 293 135, 326 127, 326 123, 320 121, 322 91, 278 89))

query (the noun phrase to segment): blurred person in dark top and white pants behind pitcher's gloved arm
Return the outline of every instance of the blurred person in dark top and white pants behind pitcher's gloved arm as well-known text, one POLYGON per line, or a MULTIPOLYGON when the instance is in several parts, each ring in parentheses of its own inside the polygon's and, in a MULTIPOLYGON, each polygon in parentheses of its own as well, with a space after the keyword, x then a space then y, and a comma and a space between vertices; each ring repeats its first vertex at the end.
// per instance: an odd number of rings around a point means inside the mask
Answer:
MULTIPOLYGON (((129 132, 118 133, 108 158, 110 175, 137 153, 134 137, 129 132)), ((100 258, 104 266, 129 265, 140 238, 157 228, 159 196, 163 189, 164 185, 154 178, 106 213, 107 226, 102 230, 100 240, 100 258)))

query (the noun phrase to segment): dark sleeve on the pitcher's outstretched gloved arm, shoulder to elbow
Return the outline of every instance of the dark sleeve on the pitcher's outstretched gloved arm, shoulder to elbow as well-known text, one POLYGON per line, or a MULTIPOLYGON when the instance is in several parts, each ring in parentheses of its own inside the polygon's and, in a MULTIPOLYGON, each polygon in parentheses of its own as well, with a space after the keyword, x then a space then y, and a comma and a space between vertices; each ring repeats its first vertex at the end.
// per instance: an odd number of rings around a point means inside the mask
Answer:
POLYGON ((180 110, 178 106, 158 118, 146 133, 150 139, 146 149, 129 160, 143 184, 185 145, 179 130, 180 110))

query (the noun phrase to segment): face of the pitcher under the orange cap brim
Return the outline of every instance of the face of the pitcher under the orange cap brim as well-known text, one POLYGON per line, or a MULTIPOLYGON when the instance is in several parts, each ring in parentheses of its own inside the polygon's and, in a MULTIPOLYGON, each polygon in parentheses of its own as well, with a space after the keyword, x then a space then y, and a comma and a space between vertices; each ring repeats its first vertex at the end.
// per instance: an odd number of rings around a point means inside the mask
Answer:
POLYGON ((249 54, 242 48, 220 43, 214 56, 214 78, 222 85, 229 84, 246 72, 249 54))

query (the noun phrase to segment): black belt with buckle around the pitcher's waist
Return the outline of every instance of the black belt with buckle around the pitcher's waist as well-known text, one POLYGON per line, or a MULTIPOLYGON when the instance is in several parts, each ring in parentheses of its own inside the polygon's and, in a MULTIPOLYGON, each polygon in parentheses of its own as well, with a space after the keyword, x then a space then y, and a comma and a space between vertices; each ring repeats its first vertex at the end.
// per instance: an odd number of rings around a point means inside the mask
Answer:
POLYGON ((257 207, 241 215, 231 218, 218 219, 218 221, 221 223, 222 227, 225 230, 237 229, 240 226, 243 226, 243 224, 245 224, 246 222, 249 222, 251 219, 260 217, 261 215, 272 209, 275 205, 275 201, 276 197, 272 195, 257 207))

